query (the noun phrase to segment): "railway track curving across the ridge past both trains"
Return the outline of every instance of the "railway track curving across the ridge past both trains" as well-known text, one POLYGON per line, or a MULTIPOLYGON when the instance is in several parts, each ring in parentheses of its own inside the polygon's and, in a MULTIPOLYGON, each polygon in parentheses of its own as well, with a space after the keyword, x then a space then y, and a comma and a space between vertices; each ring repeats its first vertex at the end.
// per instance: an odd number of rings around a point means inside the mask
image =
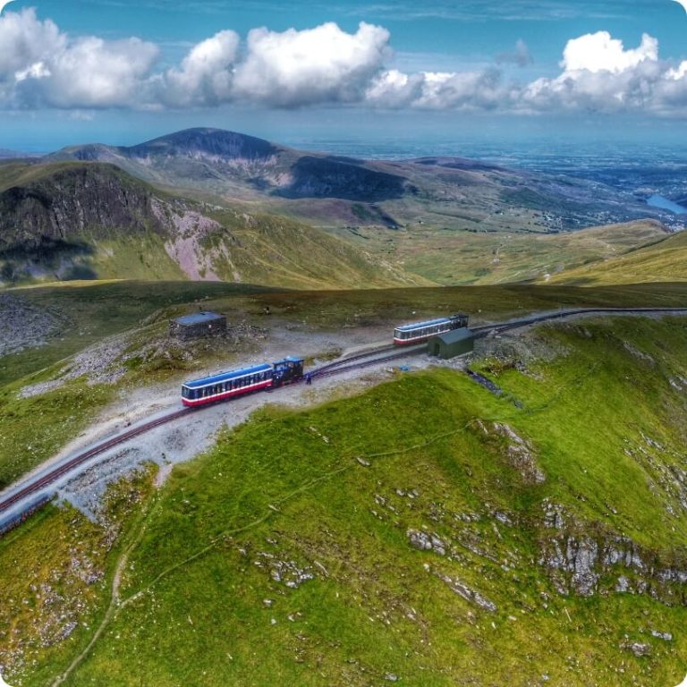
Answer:
MULTIPOLYGON (((530 325, 538 324, 539 322, 547 322, 555 319, 564 319, 573 317, 574 315, 594 315, 594 314, 625 314, 625 315, 638 315, 642 313, 687 313, 687 308, 578 308, 572 310, 560 310, 554 313, 546 313, 544 315, 536 315, 530 318, 520 318, 517 320, 512 320, 510 322, 504 322, 500 324, 482 325, 480 327, 472 327, 472 331, 478 337, 484 337, 490 333, 501 333, 508 331, 510 329, 516 329, 519 327, 528 327, 530 325)), ((349 356, 342 360, 335 360, 333 362, 322 365, 319 368, 310 370, 310 376, 312 378, 318 377, 333 377, 338 374, 342 374, 346 371, 352 369, 363 369, 370 367, 372 365, 377 365, 379 363, 391 362, 393 360, 399 360, 411 355, 417 355, 420 352, 426 350, 425 344, 419 344, 417 346, 408 346, 399 350, 395 346, 383 346, 377 349, 372 349, 366 352, 360 352, 356 355, 349 356), (385 355, 389 353, 389 355, 385 355)), ((302 383, 302 380, 301 382, 302 383)), ((83 452, 74 456, 71 460, 64 462, 62 465, 55 467, 54 470, 48 471, 45 474, 38 475, 37 479, 30 482, 23 488, 15 491, 11 496, 7 496, 4 500, 0 501, 0 517, 2 514, 9 509, 13 508, 14 505, 21 503, 22 500, 27 499, 31 495, 35 495, 37 492, 44 490, 49 487, 58 479, 64 477, 64 475, 74 471, 76 468, 88 462, 91 458, 102 454, 107 450, 114 448, 114 446, 123 444, 125 441, 133 437, 138 437, 141 434, 145 434, 151 429, 160 427, 167 422, 172 422, 177 420, 184 415, 188 415, 191 412, 197 412, 202 410, 184 408, 180 411, 174 411, 167 415, 164 415, 157 420, 151 420, 145 424, 139 425, 138 427, 131 428, 116 437, 112 437, 107 441, 104 441, 98 445, 92 446, 88 451, 83 452)), ((24 513, 25 514, 25 513, 24 513)), ((13 517, 16 517, 14 515, 13 517)), ((3 522, 0 521, 0 535, 2 534, 3 522)))

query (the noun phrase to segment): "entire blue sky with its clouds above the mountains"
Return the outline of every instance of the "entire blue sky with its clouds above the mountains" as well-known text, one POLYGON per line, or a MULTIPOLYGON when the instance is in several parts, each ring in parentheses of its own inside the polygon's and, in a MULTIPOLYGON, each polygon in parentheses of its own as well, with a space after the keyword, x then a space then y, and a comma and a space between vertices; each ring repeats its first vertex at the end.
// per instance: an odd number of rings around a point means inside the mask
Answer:
POLYGON ((670 140, 687 115, 673 0, 14 0, 0 148, 188 126, 272 140, 670 140))

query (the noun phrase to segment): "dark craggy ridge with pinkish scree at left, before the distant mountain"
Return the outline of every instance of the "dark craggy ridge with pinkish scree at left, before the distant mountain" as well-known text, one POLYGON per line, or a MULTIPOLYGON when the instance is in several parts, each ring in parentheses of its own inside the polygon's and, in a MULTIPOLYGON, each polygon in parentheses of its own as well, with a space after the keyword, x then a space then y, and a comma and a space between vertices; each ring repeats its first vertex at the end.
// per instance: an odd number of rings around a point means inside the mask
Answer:
POLYGON ((0 281, 55 278, 428 284, 317 228, 158 191, 110 163, 0 165, 0 281))

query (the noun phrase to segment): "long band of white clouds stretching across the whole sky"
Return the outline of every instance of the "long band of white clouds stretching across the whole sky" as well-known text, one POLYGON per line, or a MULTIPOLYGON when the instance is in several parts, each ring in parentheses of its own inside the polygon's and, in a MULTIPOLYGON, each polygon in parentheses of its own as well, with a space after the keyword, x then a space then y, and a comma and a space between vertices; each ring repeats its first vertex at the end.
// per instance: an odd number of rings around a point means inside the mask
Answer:
MULTIPOLYGON (((160 110, 228 104, 267 107, 357 105, 454 111, 632 111, 687 114, 687 61, 661 60, 656 38, 625 47, 606 31, 570 39, 555 78, 506 82, 496 65, 466 71, 389 67, 389 32, 361 22, 348 33, 251 30, 244 44, 221 30, 191 47, 178 66, 155 71, 159 48, 139 38, 72 38, 33 9, 0 16, 0 106, 160 110)), ((496 64, 531 64, 528 47, 496 64)), ((506 73, 511 73, 506 72, 506 73)))

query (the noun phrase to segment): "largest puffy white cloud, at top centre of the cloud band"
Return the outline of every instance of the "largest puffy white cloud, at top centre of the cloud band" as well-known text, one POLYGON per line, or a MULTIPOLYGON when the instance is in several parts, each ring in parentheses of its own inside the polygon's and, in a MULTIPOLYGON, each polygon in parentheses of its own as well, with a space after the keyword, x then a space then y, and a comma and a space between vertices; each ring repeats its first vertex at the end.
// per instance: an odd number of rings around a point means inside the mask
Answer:
POLYGON ((358 102, 382 69, 389 32, 360 22, 356 33, 327 22, 315 29, 251 30, 234 95, 272 106, 358 102))

